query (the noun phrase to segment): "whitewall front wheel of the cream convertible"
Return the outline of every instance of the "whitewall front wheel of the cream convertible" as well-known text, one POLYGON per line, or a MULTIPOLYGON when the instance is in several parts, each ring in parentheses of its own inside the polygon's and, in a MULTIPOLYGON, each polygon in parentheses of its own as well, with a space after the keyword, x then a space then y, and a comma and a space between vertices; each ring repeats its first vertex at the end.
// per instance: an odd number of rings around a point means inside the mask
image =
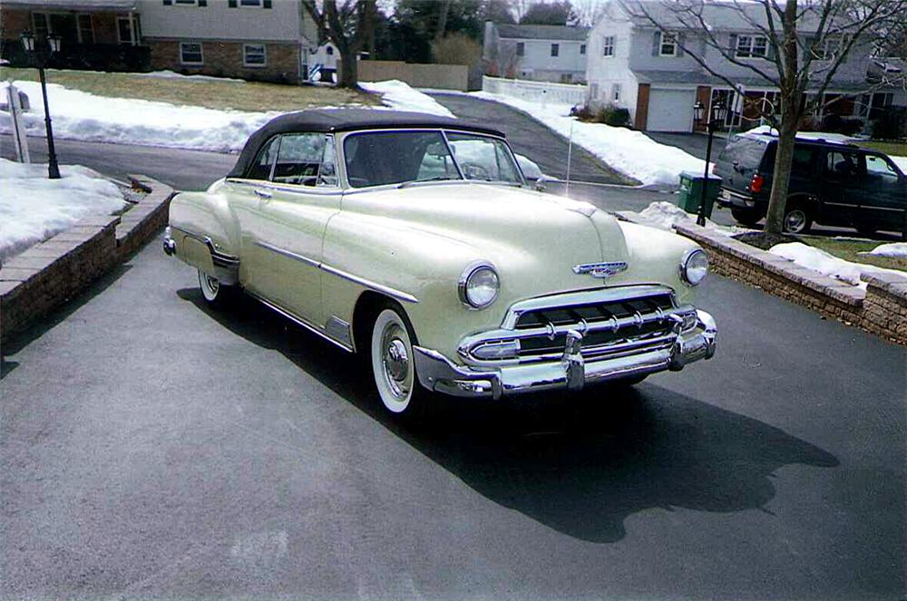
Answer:
POLYGON ((427 394, 415 374, 412 328, 405 316, 388 306, 372 326, 371 364, 375 388, 387 411, 414 417, 423 411, 427 394))

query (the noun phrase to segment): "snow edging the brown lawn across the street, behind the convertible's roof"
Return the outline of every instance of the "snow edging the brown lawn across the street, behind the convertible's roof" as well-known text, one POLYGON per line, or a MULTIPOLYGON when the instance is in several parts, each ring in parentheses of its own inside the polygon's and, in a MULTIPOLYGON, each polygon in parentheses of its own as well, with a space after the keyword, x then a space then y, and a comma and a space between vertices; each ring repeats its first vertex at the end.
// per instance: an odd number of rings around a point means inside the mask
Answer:
MULTIPOLYGON (((0 83, 0 94, 5 95, 6 86, 5 82, 0 83)), ((15 86, 28 94, 34 107, 33 111, 24 113, 25 129, 29 135, 44 136, 40 84, 19 81, 15 86)), ((382 94, 388 108, 452 116, 432 98, 404 82, 364 83, 363 87, 382 94)), ((281 114, 280 111, 224 111, 134 98, 108 98, 55 83, 47 85, 47 97, 54 119, 54 135, 61 139, 213 152, 240 150, 249 135, 281 114)), ((0 132, 11 131, 9 113, 0 112, 0 132)))

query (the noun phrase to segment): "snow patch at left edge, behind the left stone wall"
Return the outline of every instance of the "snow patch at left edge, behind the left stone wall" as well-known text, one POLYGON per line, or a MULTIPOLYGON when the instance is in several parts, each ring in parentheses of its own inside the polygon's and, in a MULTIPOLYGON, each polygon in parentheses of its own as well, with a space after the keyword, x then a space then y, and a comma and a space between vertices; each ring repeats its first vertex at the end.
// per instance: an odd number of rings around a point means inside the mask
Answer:
POLYGON ((80 165, 60 167, 0 159, 0 261, 91 215, 110 215, 125 203, 120 189, 80 165))

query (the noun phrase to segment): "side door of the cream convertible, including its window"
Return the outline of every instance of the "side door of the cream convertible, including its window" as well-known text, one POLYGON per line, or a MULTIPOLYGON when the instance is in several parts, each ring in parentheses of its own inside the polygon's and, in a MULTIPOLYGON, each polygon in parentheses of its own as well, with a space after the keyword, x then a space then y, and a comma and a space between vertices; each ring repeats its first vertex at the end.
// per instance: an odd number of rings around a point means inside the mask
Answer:
POLYGON ((283 134, 265 191, 253 228, 257 292, 321 327, 322 241, 341 199, 334 136, 283 134))

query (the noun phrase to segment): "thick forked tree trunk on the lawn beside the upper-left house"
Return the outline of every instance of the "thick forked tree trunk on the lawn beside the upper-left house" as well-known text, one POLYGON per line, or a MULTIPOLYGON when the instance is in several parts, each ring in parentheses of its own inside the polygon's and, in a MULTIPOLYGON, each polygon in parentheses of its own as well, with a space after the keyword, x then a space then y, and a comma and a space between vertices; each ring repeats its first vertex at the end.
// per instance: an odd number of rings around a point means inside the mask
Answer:
POLYGON ((374 36, 375 0, 302 0, 318 27, 318 43, 330 40, 340 53, 342 88, 359 87, 359 53, 374 36))

